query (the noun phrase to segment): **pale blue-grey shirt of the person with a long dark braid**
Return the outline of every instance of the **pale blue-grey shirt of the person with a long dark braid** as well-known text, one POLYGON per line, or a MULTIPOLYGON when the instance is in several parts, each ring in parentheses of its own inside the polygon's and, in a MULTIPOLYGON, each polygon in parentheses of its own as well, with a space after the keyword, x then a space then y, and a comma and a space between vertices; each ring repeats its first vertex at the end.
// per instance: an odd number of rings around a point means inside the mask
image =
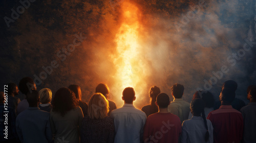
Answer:
MULTIPOLYGON (((209 120, 207 120, 207 127, 209 131, 209 140, 207 143, 214 142, 214 128, 209 120)), ((198 143, 205 142, 204 136, 206 128, 202 116, 192 116, 189 120, 186 120, 182 124, 182 143, 198 143)))

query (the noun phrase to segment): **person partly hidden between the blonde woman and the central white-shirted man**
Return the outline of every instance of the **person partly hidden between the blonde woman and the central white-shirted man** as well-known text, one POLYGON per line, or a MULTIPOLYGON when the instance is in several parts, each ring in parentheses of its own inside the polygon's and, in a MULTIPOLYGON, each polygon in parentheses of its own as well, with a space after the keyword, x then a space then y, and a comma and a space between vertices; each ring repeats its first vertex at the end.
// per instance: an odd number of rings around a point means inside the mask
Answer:
POLYGON ((115 104, 115 102, 109 100, 110 89, 109 89, 108 85, 106 85, 104 83, 98 84, 98 86, 96 87, 95 93, 98 93, 98 92, 103 94, 103 96, 106 98, 106 100, 109 101, 110 111, 109 111, 108 115, 110 116, 111 111, 116 109, 116 104, 115 104))

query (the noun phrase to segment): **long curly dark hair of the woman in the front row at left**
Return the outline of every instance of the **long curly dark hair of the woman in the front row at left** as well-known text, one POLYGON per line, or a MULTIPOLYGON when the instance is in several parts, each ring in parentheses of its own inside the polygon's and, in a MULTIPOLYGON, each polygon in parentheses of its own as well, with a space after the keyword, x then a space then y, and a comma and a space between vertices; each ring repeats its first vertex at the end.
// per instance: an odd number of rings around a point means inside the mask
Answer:
POLYGON ((57 90, 52 101, 52 111, 59 112, 64 116, 69 110, 78 106, 75 93, 67 87, 62 87, 57 90))

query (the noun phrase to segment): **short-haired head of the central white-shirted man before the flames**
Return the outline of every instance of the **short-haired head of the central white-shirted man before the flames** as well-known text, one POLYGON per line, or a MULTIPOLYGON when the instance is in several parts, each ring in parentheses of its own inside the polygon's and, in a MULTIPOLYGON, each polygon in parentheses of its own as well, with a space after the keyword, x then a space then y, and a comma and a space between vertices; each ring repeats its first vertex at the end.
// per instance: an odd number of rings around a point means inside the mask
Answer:
POLYGON ((133 104, 133 101, 135 101, 135 91, 132 87, 126 87, 123 89, 123 96, 122 100, 126 104, 133 104))

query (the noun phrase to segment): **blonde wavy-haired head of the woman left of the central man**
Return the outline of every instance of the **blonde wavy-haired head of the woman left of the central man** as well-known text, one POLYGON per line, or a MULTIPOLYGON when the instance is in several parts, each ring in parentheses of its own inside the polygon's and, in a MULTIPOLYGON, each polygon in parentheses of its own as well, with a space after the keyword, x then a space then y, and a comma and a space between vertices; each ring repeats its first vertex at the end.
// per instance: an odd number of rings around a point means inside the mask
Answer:
POLYGON ((88 115, 92 119, 104 118, 109 112, 109 101, 101 93, 94 93, 88 105, 88 115))

